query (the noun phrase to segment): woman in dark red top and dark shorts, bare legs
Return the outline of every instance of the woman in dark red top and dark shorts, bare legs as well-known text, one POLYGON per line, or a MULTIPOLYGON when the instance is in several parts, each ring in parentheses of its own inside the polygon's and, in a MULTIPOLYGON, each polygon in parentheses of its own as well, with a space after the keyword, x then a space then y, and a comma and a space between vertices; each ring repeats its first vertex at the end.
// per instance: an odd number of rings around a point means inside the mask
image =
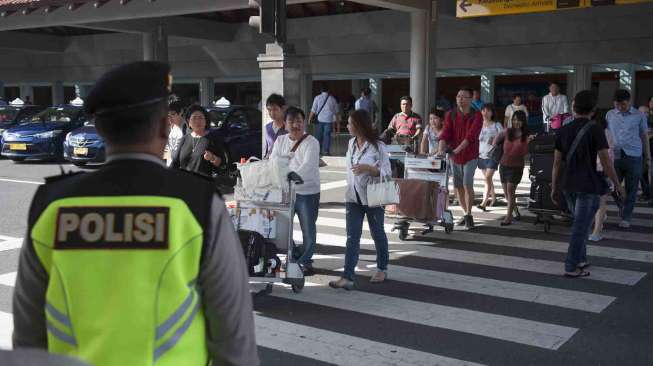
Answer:
POLYGON ((497 142, 503 141, 503 156, 499 166, 501 185, 508 201, 508 213, 501 222, 501 226, 512 223, 512 213, 515 212, 515 219, 519 220, 519 209, 515 205, 515 190, 521 182, 524 174, 524 159, 528 154, 528 143, 533 136, 528 135, 528 118, 524 111, 515 111, 512 115, 512 127, 506 129, 499 136, 497 142))

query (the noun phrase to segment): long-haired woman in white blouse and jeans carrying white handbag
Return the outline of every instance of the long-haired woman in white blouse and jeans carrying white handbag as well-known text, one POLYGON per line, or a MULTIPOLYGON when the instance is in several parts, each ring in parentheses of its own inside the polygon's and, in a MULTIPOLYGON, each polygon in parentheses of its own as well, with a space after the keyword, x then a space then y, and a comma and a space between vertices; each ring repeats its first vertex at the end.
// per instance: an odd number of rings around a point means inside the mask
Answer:
POLYGON ((367 185, 371 183, 373 177, 389 176, 392 174, 392 170, 385 144, 379 141, 367 111, 352 112, 349 115, 347 129, 354 137, 349 140, 349 149, 345 157, 347 162, 345 270, 342 277, 337 281, 329 282, 329 286, 351 290, 354 288, 354 271, 358 263, 363 218, 366 215, 376 247, 376 266, 378 268, 370 282, 379 283, 386 280, 389 255, 388 237, 385 235, 383 227, 385 212, 382 206, 369 207, 367 205, 367 185))

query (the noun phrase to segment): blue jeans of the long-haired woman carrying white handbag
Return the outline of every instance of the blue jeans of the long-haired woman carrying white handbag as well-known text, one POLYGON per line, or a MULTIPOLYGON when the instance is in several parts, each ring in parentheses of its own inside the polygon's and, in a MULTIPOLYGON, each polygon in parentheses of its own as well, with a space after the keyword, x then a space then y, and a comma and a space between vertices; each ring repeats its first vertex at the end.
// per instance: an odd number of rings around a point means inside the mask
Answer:
POLYGON ((347 252, 345 254, 344 278, 350 281, 354 280, 365 215, 367 215, 367 223, 370 226, 370 232, 376 247, 376 266, 381 271, 388 269, 388 237, 385 235, 385 228, 383 227, 384 214, 383 207, 368 207, 352 202, 346 203, 347 252))

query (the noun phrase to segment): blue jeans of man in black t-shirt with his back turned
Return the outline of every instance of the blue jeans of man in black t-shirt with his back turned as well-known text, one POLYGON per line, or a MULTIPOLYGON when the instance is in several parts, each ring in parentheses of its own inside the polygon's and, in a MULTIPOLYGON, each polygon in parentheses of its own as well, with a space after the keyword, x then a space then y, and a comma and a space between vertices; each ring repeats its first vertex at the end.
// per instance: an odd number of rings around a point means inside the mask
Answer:
POLYGON ((565 192, 565 198, 574 216, 565 271, 574 272, 579 263, 587 262, 587 238, 596 210, 599 209, 601 196, 594 193, 565 192))

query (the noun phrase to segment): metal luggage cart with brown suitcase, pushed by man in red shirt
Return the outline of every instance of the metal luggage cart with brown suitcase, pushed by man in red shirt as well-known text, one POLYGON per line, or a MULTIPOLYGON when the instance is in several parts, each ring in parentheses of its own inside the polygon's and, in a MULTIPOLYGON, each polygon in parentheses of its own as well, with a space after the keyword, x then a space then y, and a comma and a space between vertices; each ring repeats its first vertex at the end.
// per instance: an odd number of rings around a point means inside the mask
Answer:
MULTIPOLYGON (((446 193, 446 202, 444 210, 437 213, 435 220, 420 220, 419 218, 399 217, 399 221, 394 224, 392 231, 399 231, 399 239, 406 240, 408 230, 410 230, 411 221, 420 222, 425 225, 422 235, 433 232, 435 225, 442 226, 444 232, 451 234, 453 231, 453 213, 449 210, 449 167, 447 157, 419 156, 404 153, 404 179, 419 179, 425 181, 438 182, 441 189, 446 193)), ((441 199, 442 197, 438 197, 441 199)))

